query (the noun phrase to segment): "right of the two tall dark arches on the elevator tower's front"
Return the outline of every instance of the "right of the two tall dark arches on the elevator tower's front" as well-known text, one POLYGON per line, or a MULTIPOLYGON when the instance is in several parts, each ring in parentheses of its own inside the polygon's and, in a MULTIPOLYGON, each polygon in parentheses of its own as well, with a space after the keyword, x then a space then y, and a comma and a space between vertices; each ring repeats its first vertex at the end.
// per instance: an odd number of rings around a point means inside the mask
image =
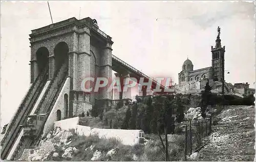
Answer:
POLYGON ((69 46, 65 42, 59 42, 54 48, 55 56, 55 71, 59 70, 61 66, 69 63, 69 46))

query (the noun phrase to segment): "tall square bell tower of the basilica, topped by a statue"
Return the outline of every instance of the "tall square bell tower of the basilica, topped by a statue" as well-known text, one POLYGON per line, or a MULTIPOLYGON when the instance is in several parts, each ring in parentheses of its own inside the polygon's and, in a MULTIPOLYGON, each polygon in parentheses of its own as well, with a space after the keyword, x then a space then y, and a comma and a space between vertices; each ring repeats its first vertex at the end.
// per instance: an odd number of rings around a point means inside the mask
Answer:
POLYGON ((225 46, 221 47, 221 28, 218 26, 218 35, 215 47, 211 46, 211 67, 213 69, 214 81, 222 82, 224 76, 224 53, 225 46))

